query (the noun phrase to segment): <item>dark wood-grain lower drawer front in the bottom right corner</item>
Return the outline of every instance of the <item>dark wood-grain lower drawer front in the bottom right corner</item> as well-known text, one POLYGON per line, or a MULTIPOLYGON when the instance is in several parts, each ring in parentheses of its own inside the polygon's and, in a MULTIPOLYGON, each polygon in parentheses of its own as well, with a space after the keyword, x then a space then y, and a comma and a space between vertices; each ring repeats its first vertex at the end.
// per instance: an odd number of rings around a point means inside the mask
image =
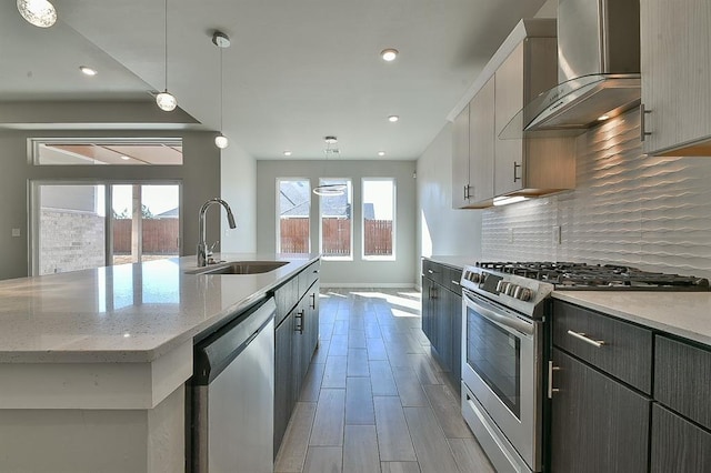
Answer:
POLYGON ((711 433, 654 403, 651 472, 711 471, 711 433))

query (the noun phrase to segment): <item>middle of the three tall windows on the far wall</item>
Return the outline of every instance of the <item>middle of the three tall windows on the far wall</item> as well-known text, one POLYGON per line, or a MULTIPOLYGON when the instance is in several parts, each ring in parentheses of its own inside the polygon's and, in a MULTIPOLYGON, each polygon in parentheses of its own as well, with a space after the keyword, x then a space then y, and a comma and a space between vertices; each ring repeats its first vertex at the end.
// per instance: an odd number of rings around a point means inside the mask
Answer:
POLYGON ((320 185, 344 184, 341 195, 321 195, 321 255, 330 260, 353 259, 353 190, 350 179, 320 179, 320 185))

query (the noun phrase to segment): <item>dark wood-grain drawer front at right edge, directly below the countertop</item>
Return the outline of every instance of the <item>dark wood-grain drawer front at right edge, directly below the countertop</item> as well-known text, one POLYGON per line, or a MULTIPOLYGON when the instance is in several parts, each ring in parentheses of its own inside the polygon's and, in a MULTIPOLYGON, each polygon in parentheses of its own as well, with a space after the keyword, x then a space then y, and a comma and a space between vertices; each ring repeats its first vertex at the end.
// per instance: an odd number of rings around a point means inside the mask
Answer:
POLYGON ((654 338, 654 399, 711 429, 711 351, 654 338))

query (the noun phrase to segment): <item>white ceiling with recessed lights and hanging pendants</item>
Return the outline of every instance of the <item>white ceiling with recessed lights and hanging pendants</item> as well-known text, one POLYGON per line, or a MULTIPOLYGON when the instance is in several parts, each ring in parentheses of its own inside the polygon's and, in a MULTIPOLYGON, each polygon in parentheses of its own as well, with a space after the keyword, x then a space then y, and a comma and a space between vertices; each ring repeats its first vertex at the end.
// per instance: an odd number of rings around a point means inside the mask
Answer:
MULTIPOLYGON (((0 101, 152 100, 164 88, 163 0, 53 0, 27 23, 0 4, 0 101), (99 70, 94 78, 79 66, 99 70)), ((168 0, 168 89, 257 159, 417 159, 519 19, 544 0, 168 0), (385 63, 379 52, 395 48, 385 63), (400 115, 398 123, 387 117, 400 115)))

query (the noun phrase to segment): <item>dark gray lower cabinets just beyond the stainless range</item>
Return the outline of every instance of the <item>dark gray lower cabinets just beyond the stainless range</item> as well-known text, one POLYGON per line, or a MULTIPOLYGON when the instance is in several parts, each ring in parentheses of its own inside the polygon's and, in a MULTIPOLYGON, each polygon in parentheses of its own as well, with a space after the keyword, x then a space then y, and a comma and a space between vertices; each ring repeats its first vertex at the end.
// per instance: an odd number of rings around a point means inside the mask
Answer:
POLYGON ((422 261, 422 331, 455 386, 461 381, 460 275, 461 269, 422 261))

